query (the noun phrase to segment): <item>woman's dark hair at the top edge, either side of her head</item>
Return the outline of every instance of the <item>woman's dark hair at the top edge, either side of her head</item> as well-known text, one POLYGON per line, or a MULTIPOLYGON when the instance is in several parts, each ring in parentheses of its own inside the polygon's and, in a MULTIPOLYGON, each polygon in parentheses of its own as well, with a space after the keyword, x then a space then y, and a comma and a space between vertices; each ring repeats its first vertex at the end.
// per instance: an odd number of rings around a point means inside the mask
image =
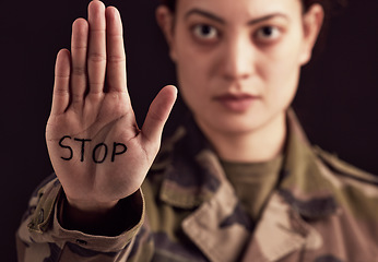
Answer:
MULTIPOLYGON (((323 7, 326 14, 339 13, 346 7, 347 0, 300 0, 304 5, 304 12, 314 4, 319 3, 323 7)), ((160 0, 161 4, 168 7, 172 12, 176 10, 177 0, 160 0)))

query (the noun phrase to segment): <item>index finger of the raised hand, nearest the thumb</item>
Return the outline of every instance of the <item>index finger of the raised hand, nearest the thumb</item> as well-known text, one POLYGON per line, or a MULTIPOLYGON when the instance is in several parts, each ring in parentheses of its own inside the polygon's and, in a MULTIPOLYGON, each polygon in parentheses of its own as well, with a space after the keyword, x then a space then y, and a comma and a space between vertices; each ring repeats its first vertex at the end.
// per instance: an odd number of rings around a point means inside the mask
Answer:
POLYGON ((118 10, 113 7, 106 9, 105 16, 108 91, 125 92, 127 83, 122 22, 118 10))

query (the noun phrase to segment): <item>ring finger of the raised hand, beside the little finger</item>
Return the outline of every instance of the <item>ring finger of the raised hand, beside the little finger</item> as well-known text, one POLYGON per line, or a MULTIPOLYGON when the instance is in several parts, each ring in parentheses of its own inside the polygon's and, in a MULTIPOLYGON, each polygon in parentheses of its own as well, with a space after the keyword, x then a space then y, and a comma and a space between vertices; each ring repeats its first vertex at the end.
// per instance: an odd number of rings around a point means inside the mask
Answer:
POLYGON ((88 24, 78 19, 72 24, 71 39, 71 93, 72 105, 81 105, 86 90, 86 52, 88 24))

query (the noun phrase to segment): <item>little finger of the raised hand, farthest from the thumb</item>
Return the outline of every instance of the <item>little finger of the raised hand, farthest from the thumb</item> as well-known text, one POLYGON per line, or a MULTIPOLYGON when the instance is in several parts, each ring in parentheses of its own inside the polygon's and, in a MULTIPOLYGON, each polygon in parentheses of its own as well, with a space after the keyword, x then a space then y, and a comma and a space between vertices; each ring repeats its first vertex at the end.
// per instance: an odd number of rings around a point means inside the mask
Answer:
POLYGON ((63 114, 70 104, 70 51, 61 49, 57 55, 52 94, 52 115, 63 114))

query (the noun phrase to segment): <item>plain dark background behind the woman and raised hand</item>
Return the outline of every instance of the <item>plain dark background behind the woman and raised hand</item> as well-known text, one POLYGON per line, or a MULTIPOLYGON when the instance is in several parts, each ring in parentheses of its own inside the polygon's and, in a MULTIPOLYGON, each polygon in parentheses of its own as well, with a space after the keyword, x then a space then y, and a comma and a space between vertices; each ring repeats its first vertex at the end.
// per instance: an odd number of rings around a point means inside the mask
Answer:
MULTIPOLYGON (((15 261, 14 231, 27 199, 52 171, 45 145, 60 48, 88 1, 7 1, 0 5, 1 243, 0 260, 15 261)), ((106 1, 120 9, 126 33, 130 96, 141 124, 174 67, 155 22, 154 0, 106 1)), ((305 67, 294 102, 310 141, 378 174, 378 1, 350 0, 331 21, 326 46, 305 67)), ((180 106, 173 115, 180 117, 180 106)))

